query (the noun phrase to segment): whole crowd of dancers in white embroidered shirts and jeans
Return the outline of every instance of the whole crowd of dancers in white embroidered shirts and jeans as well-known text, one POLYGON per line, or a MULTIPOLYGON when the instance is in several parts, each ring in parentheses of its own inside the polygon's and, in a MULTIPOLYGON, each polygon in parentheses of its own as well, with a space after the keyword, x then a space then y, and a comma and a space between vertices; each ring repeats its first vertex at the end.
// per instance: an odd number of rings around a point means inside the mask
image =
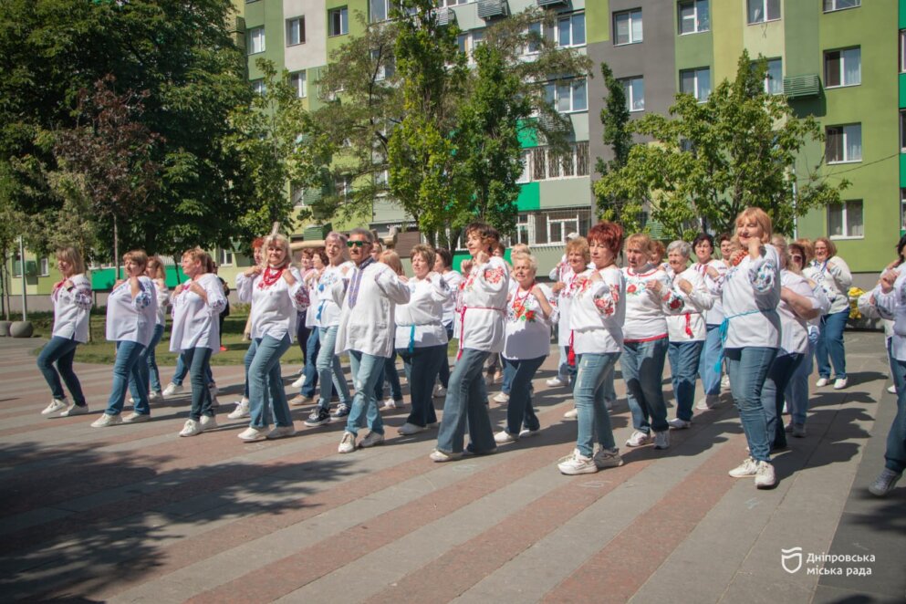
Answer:
MULTIPOLYGON (((533 381, 553 336, 557 376, 547 384, 571 389, 574 408, 565 417, 577 424, 572 453, 557 463, 562 474, 591 474, 623 463, 610 420, 619 360, 633 428, 626 447, 668 449, 671 431, 688 429, 696 411, 725 400, 724 384, 748 443, 748 456, 729 474, 770 488, 777 480, 772 453, 786 449, 787 435, 807 434, 813 356, 815 388, 848 386, 843 328, 849 267, 827 238, 787 242, 774 234, 760 209, 740 213, 734 233, 719 235, 716 245, 713 235, 702 233, 691 244, 678 240, 665 248, 648 234, 627 236, 620 224, 601 221, 585 236, 571 236, 549 284, 539 281, 528 246, 513 246, 507 262, 490 225, 469 224, 464 234, 469 257, 459 271, 449 250, 420 244, 409 251, 411 276, 400 255, 383 249, 363 228, 331 232, 323 247, 302 250, 298 266, 286 236, 256 239, 255 263, 235 283, 239 300, 250 305, 245 391, 226 416, 248 420, 238 438, 292 436, 297 428, 291 407, 312 405, 306 426, 345 422, 338 453, 383 443, 381 410, 405 406, 399 356, 411 412, 397 432, 437 429, 430 457, 438 463, 492 453, 541 432, 533 381), (287 400, 280 361, 294 338, 304 365, 292 384, 298 395, 287 400), (351 389, 341 357, 349 359, 351 389), (676 402, 673 418, 662 386, 665 364, 676 402), (488 385, 498 370, 502 391, 493 400, 505 403, 506 412, 504 425, 495 429, 488 385), (698 380, 703 396, 696 402, 698 380), (435 399, 443 400, 440 422, 435 399), (363 428, 367 433, 359 438, 363 428)), ((891 388, 898 393, 885 468, 870 487, 875 495, 887 495, 906 469, 904 245, 901 240, 899 259, 879 285, 859 300, 863 312, 886 319, 891 388)), ((91 425, 151 420, 151 401, 182 392, 188 376, 192 403, 179 435, 216 428, 210 361, 221 350, 228 289, 211 256, 198 247, 187 250, 187 279, 172 292, 158 256, 134 250, 123 262, 125 278, 107 301, 106 336, 116 346, 113 382, 106 410, 91 425), (154 350, 168 309, 170 350, 179 363, 172 383, 161 388, 154 350), (124 415, 129 394, 132 411, 124 415)), ((37 364, 53 396, 42 413, 68 417, 89 411, 72 364, 78 344, 88 339, 92 292, 77 250, 59 250, 57 266, 63 280, 51 296, 53 334, 37 364)))

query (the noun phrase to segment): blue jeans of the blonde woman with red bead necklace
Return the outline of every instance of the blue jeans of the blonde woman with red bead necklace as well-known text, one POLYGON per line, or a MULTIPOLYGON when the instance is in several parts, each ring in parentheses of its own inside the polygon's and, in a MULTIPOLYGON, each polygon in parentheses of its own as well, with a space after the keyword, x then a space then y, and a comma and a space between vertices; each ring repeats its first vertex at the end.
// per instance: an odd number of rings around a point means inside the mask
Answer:
POLYGON ((290 346, 289 334, 282 339, 271 336, 255 338, 255 343, 255 359, 252 359, 252 365, 248 369, 248 399, 252 417, 249 425, 259 430, 269 426, 273 407, 276 425, 291 426, 293 418, 289 414, 289 403, 286 402, 280 372, 280 357, 290 346))

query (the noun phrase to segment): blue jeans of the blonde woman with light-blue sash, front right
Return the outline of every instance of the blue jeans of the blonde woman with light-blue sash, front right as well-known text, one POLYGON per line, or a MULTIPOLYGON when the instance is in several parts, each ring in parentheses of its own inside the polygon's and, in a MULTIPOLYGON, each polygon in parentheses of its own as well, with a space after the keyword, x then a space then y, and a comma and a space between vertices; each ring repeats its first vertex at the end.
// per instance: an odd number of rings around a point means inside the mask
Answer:
POLYGON ((727 373, 730 376, 730 391, 739 419, 743 423, 745 440, 749 443, 749 454, 757 462, 771 461, 771 440, 774 434, 767 432, 765 407, 761 403, 767 373, 777 355, 777 349, 752 346, 745 349, 725 349, 727 373))

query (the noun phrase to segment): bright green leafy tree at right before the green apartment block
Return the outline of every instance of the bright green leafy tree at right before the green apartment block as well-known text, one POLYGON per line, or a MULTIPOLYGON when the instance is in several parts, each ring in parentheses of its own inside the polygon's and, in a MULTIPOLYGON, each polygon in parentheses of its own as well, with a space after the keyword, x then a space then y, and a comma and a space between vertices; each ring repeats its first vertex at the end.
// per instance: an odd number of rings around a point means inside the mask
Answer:
POLYGON ((633 146, 624 166, 604 174, 599 199, 647 204, 669 236, 685 238, 732 230, 747 206, 764 209, 777 232, 790 233, 795 216, 839 203, 849 182, 820 179, 820 162, 806 174, 793 172, 806 141, 823 141, 823 134, 813 117, 797 118, 782 95, 765 93, 765 73, 765 60, 753 63, 744 52, 734 81, 724 80, 705 102, 681 94, 670 117, 634 122, 654 142, 633 146))

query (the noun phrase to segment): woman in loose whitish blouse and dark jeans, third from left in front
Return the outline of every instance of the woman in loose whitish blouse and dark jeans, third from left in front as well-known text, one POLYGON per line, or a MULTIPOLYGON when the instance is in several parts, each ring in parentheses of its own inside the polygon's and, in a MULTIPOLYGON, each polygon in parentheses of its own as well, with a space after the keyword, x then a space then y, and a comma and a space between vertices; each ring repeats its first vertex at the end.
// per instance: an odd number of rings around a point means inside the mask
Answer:
POLYGON ((220 351, 220 313, 226 307, 226 297, 220 279, 209 270, 212 264, 200 247, 186 250, 182 272, 189 281, 173 298, 170 350, 182 355, 192 382, 192 409, 180 436, 195 436, 217 427, 207 385, 211 355, 220 351))

